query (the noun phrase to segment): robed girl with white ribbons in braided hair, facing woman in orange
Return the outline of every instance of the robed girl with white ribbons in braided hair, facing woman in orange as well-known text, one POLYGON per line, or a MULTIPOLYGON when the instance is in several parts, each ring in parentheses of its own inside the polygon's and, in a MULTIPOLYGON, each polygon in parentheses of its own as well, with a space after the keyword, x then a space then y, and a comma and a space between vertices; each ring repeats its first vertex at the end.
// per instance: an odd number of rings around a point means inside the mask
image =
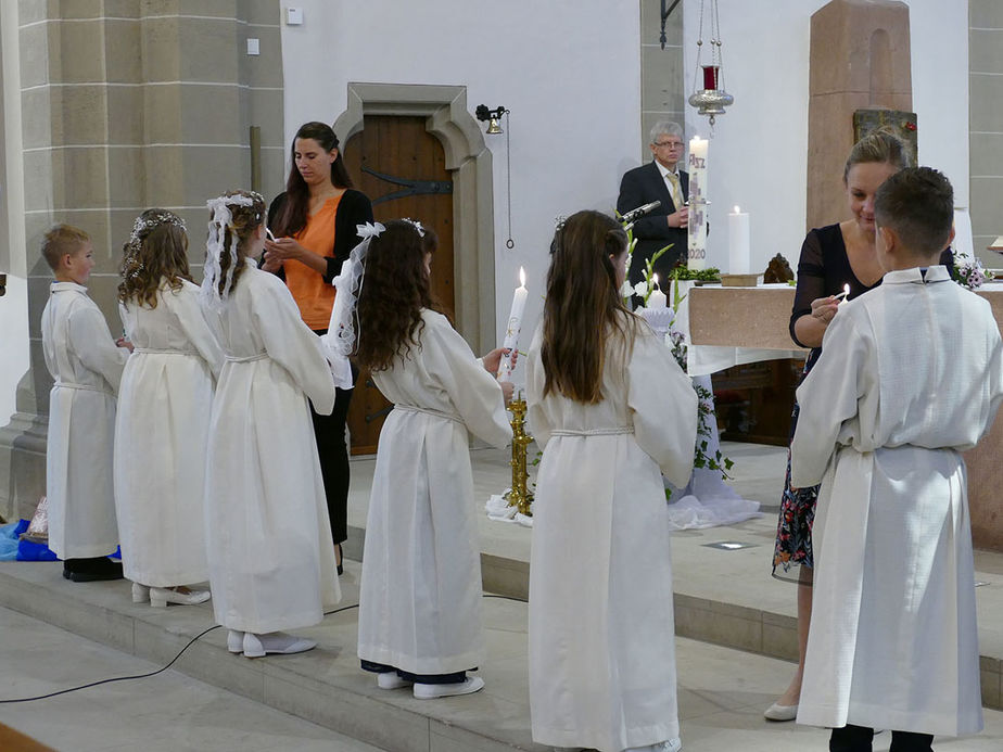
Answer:
POLYGON ((208 207, 202 303, 226 358, 205 484, 213 607, 230 652, 302 652, 316 642, 280 630, 319 623, 341 599, 309 413, 309 402, 331 411, 334 382, 289 289, 252 260, 262 196, 232 191, 208 207))

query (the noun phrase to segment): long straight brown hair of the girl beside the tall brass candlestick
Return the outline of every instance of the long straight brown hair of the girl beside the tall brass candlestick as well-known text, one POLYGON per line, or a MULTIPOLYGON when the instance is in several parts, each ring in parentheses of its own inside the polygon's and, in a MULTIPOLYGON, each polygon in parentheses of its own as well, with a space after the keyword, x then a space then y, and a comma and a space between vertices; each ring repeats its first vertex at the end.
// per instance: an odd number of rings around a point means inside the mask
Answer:
POLYGON ((550 243, 550 270, 544 302, 544 396, 602 402, 602 368, 610 336, 633 346, 636 319, 617 289, 610 257, 626 250, 626 233, 612 217, 579 212, 564 220, 550 243))

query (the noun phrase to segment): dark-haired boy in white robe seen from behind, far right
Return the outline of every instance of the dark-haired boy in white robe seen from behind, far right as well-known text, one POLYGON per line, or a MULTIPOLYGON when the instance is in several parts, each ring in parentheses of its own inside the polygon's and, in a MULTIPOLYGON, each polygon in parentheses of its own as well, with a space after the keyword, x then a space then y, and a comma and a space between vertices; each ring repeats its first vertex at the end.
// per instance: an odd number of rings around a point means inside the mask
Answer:
POLYGON ((875 199, 881 285, 839 307, 798 390, 791 483, 822 482, 798 722, 834 752, 982 728, 965 463, 1003 398, 987 301, 938 266, 953 191, 910 168, 875 199))

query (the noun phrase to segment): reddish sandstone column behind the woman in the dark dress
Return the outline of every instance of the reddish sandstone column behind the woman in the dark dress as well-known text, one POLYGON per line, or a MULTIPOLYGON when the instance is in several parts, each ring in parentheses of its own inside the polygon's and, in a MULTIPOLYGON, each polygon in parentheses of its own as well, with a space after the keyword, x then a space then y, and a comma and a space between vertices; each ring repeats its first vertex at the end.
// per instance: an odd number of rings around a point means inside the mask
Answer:
POLYGON ((812 15, 807 229, 849 218, 842 169, 853 113, 912 110, 909 7, 833 0, 812 15))

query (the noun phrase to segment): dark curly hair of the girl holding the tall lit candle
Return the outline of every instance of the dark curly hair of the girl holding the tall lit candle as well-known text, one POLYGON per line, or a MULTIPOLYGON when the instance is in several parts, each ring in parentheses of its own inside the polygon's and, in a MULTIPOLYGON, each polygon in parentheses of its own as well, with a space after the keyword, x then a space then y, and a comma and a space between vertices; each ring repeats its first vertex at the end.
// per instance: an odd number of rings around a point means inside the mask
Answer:
POLYGON ((440 310, 424 270, 426 254, 436 248, 435 234, 424 230, 421 238, 403 219, 383 224, 386 229, 369 241, 357 307, 356 359, 370 371, 390 368, 397 355, 418 346, 422 308, 440 310))

